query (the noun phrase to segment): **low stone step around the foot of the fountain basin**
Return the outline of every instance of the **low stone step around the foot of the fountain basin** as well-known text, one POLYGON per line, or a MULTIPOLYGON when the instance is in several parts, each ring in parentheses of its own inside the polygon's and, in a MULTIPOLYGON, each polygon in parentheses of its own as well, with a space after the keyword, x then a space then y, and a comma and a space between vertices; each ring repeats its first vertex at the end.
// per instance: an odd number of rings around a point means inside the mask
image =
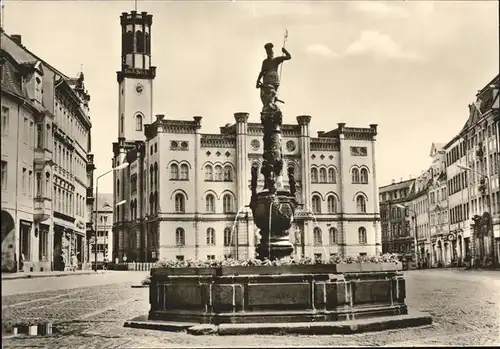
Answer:
POLYGON ((240 324, 193 324, 160 320, 149 320, 143 315, 124 323, 124 327, 180 332, 191 335, 218 334, 221 336, 254 334, 355 334, 390 329, 421 327, 432 324, 432 317, 417 310, 409 310, 406 315, 393 315, 359 320, 296 323, 240 323, 240 324))

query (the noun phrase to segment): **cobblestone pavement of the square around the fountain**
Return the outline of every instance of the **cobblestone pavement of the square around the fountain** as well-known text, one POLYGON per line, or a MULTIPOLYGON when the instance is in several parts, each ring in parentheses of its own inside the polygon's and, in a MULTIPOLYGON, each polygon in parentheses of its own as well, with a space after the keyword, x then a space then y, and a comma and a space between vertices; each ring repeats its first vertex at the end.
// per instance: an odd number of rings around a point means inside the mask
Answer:
MULTIPOLYGON (((126 272, 124 272, 126 273, 126 272)), ((148 311, 148 289, 112 283, 2 297, 2 321, 54 321, 57 333, 3 338, 4 348, 165 348, 186 346, 435 346, 500 344, 500 272, 406 272, 407 303, 429 312, 423 328, 328 336, 190 336, 124 328, 148 311)), ((134 276, 136 277, 136 276, 134 276)), ((61 278, 62 279, 62 278, 61 278)))

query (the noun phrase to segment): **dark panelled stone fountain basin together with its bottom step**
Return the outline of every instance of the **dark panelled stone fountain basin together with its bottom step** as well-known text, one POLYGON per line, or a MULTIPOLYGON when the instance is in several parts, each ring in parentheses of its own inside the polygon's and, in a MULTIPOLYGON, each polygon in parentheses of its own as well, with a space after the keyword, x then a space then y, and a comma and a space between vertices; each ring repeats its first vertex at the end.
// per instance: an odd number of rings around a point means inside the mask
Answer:
POLYGON ((193 334, 355 333, 428 325, 401 263, 153 268, 147 316, 127 327, 193 334))

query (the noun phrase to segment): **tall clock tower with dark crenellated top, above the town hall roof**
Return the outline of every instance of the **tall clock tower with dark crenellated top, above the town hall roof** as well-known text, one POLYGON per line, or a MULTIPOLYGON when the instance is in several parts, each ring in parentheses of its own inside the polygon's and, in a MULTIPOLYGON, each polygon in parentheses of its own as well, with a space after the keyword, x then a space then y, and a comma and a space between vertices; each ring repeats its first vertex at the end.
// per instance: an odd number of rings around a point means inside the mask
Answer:
POLYGON ((118 80, 118 138, 127 142, 144 140, 144 125, 153 117, 153 80, 151 66, 151 25, 147 12, 123 12, 121 70, 118 80))

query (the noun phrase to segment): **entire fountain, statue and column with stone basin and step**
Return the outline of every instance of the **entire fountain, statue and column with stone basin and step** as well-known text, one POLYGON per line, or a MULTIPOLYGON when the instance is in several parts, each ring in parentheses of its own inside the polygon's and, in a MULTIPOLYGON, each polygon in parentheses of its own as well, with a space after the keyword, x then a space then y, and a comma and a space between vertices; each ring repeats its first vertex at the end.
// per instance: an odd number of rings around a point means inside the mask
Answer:
POLYGON ((249 204, 260 229, 256 252, 263 264, 153 268, 149 314, 125 326, 229 335, 353 333, 429 324, 427 314, 408 312, 399 262, 279 264, 293 253, 288 231, 299 205, 293 169, 287 173, 289 191, 282 184, 283 115, 277 105, 278 67, 291 56, 283 49, 285 55, 274 58, 272 44, 265 48, 268 58, 256 84, 263 104, 264 188, 257 192, 259 173, 252 168, 249 204))

